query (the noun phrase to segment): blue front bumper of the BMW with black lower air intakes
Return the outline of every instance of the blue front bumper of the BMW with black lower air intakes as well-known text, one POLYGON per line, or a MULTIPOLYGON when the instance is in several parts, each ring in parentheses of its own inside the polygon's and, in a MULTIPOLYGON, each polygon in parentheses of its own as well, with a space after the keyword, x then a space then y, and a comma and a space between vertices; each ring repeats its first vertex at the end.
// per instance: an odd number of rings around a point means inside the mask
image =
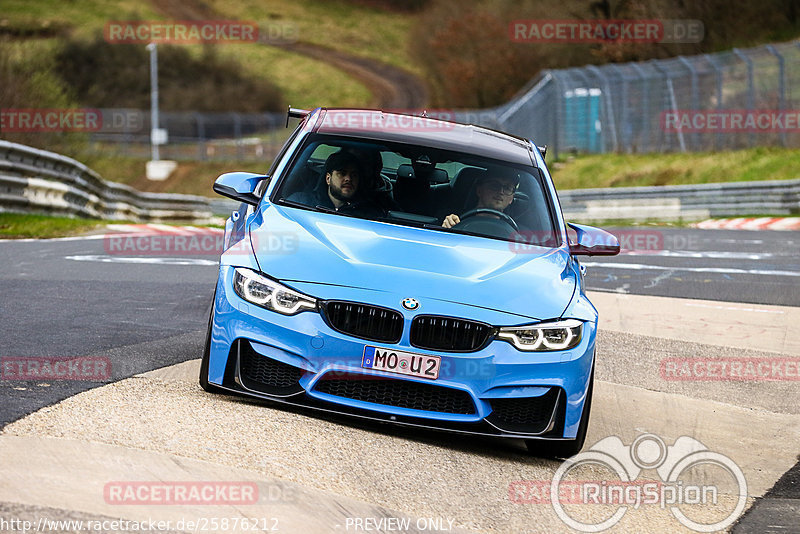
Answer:
POLYGON ((357 288, 286 282, 320 299, 368 303, 403 315, 398 343, 367 341, 334 330, 322 314, 293 316, 255 306, 232 288, 233 268, 222 266, 209 349, 209 383, 273 402, 401 425, 509 437, 575 438, 594 363, 596 322, 584 325, 570 350, 521 352, 492 340, 473 352, 414 347, 409 329, 423 313, 516 325, 531 319, 453 302, 357 288), (441 357, 436 380, 362 367, 365 346, 441 357))

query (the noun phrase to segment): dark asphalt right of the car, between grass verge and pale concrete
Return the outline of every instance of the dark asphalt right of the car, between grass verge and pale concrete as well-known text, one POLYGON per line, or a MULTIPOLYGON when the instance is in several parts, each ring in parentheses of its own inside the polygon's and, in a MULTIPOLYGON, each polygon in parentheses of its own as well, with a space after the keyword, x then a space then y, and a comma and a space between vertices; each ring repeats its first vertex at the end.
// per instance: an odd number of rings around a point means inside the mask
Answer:
POLYGON ((586 258, 590 290, 800 306, 800 232, 614 229, 627 250, 586 258))

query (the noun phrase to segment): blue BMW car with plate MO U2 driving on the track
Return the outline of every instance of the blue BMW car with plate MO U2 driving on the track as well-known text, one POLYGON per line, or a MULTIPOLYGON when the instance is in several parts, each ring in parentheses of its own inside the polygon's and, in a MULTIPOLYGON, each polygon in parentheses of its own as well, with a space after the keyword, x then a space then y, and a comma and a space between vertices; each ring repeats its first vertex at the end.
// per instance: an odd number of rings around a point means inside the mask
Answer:
POLYGON ((242 204, 203 389, 577 453, 597 334, 577 256, 619 244, 565 223, 543 149, 425 116, 289 116, 267 175, 214 184, 242 204))

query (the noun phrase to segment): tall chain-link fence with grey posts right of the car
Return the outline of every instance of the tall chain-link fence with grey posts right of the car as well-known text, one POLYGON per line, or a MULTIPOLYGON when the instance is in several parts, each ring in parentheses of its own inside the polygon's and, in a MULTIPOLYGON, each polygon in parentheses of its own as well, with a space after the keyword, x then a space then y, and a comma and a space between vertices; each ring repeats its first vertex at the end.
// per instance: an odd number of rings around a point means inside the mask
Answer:
POLYGON ((800 41, 544 71, 510 102, 460 112, 556 154, 800 146, 800 41))

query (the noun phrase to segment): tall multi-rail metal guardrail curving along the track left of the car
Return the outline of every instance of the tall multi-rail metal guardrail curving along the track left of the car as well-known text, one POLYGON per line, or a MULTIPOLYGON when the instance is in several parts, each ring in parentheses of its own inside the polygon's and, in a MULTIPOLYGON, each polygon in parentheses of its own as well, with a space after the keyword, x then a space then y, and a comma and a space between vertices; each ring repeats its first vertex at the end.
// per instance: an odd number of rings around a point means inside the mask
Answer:
POLYGON ((211 219, 209 199, 142 193, 106 182, 72 158, 0 140, 0 211, 130 221, 211 219))

